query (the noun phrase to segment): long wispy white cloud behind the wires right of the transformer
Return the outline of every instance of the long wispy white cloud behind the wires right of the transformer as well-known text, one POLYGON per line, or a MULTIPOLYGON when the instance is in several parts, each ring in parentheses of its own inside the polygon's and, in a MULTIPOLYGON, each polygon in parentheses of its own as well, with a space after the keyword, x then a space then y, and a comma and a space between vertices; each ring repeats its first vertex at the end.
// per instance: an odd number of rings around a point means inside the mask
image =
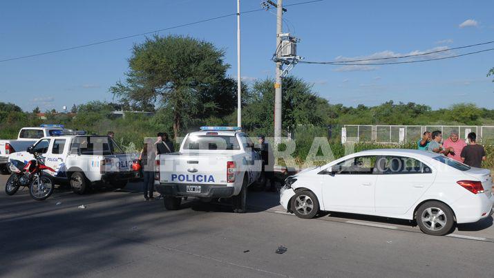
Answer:
POLYGON ((435 58, 447 57, 452 54, 452 52, 448 49, 449 49, 448 46, 437 46, 435 48, 430 48, 426 50, 413 50, 410 51, 409 53, 395 53, 391 50, 384 50, 366 56, 355 56, 355 57, 338 56, 336 57, 335 62, 349 62, 353 60, 364 60, 364 61, 354 62, 359 65, 352 65, 349 63, 348 66, 347 65, 341 66, 339 68, 336 68, 334 71, 339 71, 339 72, 374 71, 378 67, 372 64, 376 64, 376 63, 379 64, 379 63, 390 63, 390 62, 412 62, 421 59, 435 59, 435 58), (436 52, 436 51, 440 51, 440 52, 436 52), (435 52, 435 53, 431 53, 431 52, 435 52), (430 54, 426 54, 426 53, 430 53, 430 54), (393 57, 410 56, 410 55, 412 56, 401 59, 393 58, 393 57), (365 61, 368 59, 370 59, 370 61, 365 61))

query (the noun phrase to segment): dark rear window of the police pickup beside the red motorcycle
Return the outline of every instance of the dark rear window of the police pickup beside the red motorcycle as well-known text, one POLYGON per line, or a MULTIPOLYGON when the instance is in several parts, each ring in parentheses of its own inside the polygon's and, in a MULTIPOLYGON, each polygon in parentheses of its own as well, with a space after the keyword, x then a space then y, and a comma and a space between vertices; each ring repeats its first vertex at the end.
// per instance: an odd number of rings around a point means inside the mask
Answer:
POLYGON ((72 154, 88 154, 107 156, 124 152, 112 138, 108 136, 77 136, 70 145, 72 154))

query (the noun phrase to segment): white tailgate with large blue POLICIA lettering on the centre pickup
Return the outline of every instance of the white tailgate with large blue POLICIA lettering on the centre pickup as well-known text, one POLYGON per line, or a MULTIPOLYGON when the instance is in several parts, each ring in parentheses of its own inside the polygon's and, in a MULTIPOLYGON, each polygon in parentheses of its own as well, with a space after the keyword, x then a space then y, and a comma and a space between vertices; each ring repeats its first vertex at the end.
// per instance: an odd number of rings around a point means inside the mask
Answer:
POLYGON ((227 185, 228 155, 160 156, 160 183, 227 185))

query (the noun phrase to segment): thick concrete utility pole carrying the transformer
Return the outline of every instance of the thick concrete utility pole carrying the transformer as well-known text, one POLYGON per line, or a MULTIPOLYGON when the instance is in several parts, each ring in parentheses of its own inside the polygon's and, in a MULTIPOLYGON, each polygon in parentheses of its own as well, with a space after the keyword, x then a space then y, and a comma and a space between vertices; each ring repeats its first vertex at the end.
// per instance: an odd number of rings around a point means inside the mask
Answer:
MULTIPOLYGON (((281 33, 283 33, 283 0, 276 3, 276 57, 280 57, 281 33)), ((283 64, 276 60, 276 79, 274 80, 274 140, 276 145, 281 142, 281 74, 283 64)))

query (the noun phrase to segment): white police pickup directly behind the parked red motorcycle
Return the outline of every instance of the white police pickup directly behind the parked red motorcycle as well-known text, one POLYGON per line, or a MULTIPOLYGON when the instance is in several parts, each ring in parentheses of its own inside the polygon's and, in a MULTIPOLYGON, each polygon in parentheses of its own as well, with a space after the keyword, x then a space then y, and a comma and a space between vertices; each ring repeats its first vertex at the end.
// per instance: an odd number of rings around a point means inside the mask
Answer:
MULTIPOLYGON (((101 183, 122 188, 138 177, 133 171, 137 154, 124 151, 108 136, 50 136, 39 139, 32 147, 45 158, 45 165, 55 169, 48 174, 60 183, 68 181, 73 192, 84 194, 91 185, 101 183)), ((27 162, 33 159, 27 151, 16 152, 10 160, 27 162)))

